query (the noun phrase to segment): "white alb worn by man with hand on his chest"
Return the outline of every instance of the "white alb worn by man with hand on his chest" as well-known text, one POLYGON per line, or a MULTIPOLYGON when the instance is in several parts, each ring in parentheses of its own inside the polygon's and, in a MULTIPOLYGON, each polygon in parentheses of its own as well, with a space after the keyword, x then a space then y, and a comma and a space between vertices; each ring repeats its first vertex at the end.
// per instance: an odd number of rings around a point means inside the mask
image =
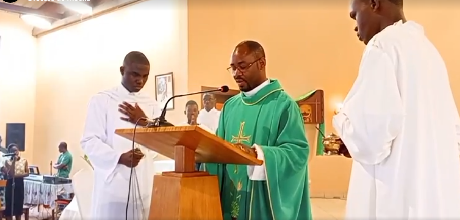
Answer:
MULTIPOLYGON (((148 117, 160 116, 161 109, 157 102, 141 92, 130 93, 122 85, 94 95, 88 106, 88 113, 83 131, 81 145, 94 166, 94 190, 92 199, 93 219, 125 219, 128 202, 130 168, 118 164, 121 154, 132 149, 132 142, 116 135, 119 128, 134 128, 125 122, 125 117, 118 111, 123 101, 137 103, 148 117)), ((140 127, 140 126, 139 126, 140 127)), ((131 189, 128 207, 128 219, 147 219, 153 184, 153 151, 139 146, 146 154, 135 168, 138 187, 131 189), (133 193, 140 190, 140 195, 133 193)))

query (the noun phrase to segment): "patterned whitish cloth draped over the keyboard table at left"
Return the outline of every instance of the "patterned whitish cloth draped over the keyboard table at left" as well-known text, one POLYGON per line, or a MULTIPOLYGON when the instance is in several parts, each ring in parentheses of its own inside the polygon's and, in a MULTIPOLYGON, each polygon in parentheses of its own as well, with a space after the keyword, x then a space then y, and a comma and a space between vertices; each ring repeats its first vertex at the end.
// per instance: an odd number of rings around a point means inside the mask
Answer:
POLYGON ((74 193, 72 184, 44 184, 24 180, 24 204, 55 207, 57 196, 74 193))

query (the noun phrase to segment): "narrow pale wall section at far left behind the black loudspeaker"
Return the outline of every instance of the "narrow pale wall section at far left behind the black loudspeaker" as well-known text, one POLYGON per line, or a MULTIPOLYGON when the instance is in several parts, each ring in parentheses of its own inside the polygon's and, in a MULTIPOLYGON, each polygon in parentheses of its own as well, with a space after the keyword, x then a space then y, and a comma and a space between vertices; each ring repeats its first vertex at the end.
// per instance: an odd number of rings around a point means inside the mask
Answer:
MULTIPOLYGON (((37 39, 18 14, 0 11, 0 136, 6 123, 26 124, 26 152, 33 163, 37 39)), ((6 143, 3 142, 2 145, 6 143)))

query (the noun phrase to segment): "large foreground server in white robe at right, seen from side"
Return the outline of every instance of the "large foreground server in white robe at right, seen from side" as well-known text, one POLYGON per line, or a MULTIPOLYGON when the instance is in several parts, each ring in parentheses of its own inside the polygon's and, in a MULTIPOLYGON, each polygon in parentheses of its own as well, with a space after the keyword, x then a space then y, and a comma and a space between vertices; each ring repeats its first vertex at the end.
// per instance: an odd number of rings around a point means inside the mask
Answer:
POLYGON ((333 117, 353 165, 346 219, 460 219, 460 119, 444 61, 402 0, 353 0, 366 44, 333 117))

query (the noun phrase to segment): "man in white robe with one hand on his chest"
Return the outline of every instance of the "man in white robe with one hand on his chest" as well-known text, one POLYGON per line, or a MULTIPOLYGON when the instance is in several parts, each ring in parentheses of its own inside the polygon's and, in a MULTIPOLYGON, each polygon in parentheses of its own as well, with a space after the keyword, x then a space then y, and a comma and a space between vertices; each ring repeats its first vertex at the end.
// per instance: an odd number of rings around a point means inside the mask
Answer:
MULTIPOLYGON (((97 93, 89 102, 81 145, 94 166, 94 219, 125 219, 126 214, 130 220, 148 217, 153 154, 156 153, 140 146, 143 157, 132 151, 131 141, 114 132, 119 128, 133 128, 139 118, 155 118, 161 114, 157 102, 140 92, 149 71, 150 64, 144 54, 128 53, 120 67, 121 85, 97 93), (127 207, 131 165, 137 178, 132 180, 127 207)), ((141 125, 146 125, 146 121, 141 120, 139 127, 141 125)))

